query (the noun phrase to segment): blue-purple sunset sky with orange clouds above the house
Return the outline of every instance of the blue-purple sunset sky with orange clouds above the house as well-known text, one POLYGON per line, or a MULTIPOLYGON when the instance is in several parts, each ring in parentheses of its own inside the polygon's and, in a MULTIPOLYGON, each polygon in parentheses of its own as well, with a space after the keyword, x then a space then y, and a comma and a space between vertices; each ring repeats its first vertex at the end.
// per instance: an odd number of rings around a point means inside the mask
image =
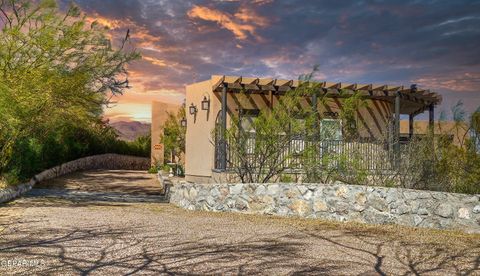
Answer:
MULTIPOLYGON (((68 1, 65 0, 65 3, 68 1)), ((64 3, 64 4, 65 4, 64 3)), ((418 84, 480 105, 480 1, 77 0, 112 37, 131 31, 143 60, 132 89, 106 111, 150 121, 150 102, 181 103, 212 74, 418 84)))

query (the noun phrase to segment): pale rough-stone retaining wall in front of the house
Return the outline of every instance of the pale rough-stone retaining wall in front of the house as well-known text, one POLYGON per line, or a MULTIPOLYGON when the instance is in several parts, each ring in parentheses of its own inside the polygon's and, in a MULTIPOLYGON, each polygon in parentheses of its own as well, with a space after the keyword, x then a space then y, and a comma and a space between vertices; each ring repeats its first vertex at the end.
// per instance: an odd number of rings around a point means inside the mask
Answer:
POLYGON ((194 184, 172 188, 189 210, 400 224, 480 233, 479 195, 345 184, 194 184))

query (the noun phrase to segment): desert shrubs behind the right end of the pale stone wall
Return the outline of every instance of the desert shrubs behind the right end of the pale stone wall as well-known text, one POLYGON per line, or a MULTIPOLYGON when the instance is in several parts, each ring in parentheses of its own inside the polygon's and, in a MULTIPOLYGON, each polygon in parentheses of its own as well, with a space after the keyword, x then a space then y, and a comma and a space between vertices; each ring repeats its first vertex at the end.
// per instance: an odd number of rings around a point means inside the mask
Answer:
MULTIPOLYGON (((461 124, 465 127, 466 124, 461 124)), ((456 126, 459 127, 459 126, 456 126)), ((455 193, 480 193, 480 155, 474 138, 465 144, 455 144, 445 135, 429 132, 402 145, 398 163, 388 155, 378 152, 373 160, 378 167, 391 164, 388 170, 367 171, 362 168, 363 157, 351 149, 334 156, 335 167, 330 182, 359 185, 378 185, 410 189, 445 191, 455 193), (348 172, 348 173, 344 173, 348 172)))

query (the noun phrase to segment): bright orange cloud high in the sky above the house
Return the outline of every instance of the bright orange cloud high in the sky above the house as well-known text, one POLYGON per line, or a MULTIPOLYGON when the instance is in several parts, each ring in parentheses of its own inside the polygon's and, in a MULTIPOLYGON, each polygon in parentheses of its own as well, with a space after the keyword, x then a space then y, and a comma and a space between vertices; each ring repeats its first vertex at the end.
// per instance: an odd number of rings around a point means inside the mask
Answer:
POLYGON ((248 14, 250 10, 241 8, 235 15, 231 15, 220 10, 208 7, 194 6, 188 11, 188 17, 194 19, 199 18, 206 21, 216 22, 222 28, 227 29, 239 40, 248 38, 248 34, 257 39, 261 39, 256 35, 257 27, 265 27, 268 24, 266 18, 259 15, 248 14), (253 18, 257 17, 257 18, 253 18))

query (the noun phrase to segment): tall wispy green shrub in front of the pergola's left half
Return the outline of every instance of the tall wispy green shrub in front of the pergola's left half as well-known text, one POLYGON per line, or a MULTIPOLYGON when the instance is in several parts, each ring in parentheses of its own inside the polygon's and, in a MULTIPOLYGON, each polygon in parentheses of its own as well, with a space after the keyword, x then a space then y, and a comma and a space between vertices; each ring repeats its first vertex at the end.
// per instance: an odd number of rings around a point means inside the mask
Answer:
MULTIPOLYGON (((219 127, 213 135, 216 143, 224 139, 228 144, 231 159, 229 167, 244 183, 265 183, 280 177, 297 166, 302 145, 294 145, 305 137, 315 135, 312 127, 316 112, 301 107, 302 99, 316 91, 315 83, 303 77, 302 85, 280 97, 279 104, 271 109, 260 110, 254 118, 242 114, 231 117, 230 127, 223 133, 219 127), (292 151, 286 149, 297 147, 292 151)), ((241 94, 248 98, 245 93, 241 94)), ((241 96, 239 96, 241 97, 241 96)), ((248 101, 248 99, 246 99, 248 101)))

